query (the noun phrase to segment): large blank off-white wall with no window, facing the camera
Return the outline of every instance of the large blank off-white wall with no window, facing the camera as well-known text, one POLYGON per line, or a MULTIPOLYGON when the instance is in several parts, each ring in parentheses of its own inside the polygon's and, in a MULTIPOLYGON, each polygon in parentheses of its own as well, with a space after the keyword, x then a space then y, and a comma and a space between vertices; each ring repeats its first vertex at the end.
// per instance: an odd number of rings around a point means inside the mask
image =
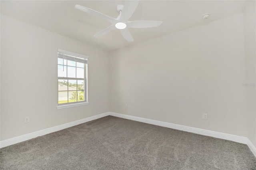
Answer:
POLYGON ((243 14, 111 51, 110 111, 247 136, 244 53, 243 14))

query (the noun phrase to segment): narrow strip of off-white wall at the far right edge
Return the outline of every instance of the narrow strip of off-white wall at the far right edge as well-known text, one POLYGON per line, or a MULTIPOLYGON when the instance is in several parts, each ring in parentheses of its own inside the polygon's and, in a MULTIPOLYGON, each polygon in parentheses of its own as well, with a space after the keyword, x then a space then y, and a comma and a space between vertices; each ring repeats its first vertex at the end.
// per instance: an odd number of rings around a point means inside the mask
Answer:
MULTIPOLYGON (((256 56, 256 13, 255 1, 250 1, 244 11, 244 35, 245 35, 245 66, 246 83, 253 84, 255 81, 255 56, 256 56)), ((248 138, 256 146, 256 91, 255 87, 246 88, 247 99, 247 128, 248 138)))

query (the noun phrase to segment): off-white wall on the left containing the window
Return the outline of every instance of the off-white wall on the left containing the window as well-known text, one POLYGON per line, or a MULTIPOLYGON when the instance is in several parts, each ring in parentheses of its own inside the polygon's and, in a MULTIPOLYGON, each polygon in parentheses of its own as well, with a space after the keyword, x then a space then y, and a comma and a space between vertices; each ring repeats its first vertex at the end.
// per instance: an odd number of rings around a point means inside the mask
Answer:
POLYGON ((1 49, 0 140, 109 111, 106 51, 2 14, 1 49), (58 48, 89 56, 89 105, 56 109, 58 48))

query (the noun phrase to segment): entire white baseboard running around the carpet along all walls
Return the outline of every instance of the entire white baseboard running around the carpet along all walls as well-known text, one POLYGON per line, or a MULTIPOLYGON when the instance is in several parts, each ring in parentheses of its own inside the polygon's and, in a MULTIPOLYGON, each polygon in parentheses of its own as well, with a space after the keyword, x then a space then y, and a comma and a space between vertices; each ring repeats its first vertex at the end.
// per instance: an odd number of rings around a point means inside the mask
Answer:
POLYGON ((102 113, 100 115, 95 115, 92 117, 88 117, 85 119, 81 119, 78 121, 74 121, 74 122, 70 122, 70 123, 66 123, 63 125, 59 125, 56 127, 51 127, 51 128, 47 128, 44 130, 39 130, 37 132, 32 132, 29 134, 24 134, 22 136, 17 136, 14 138, 10 138, 7 140, 3 140, 0 141, 0 148, 12 145, 12 144, 16 144, 19 142, 23 142, 32 138, 36 138, 38 136, 42 136, 45 134, 49 134, 52 132, 56 132, 58 130, 62 130, 64 128, 69 128, 69 127, 73 127, 76 125, 79 125, 81 123, 86 123, 89 121, 93 121, 95 119, 99 119, 105 116, 114 116, 114 117, 120 117, 123 119, 130 119, 133 121, 138 121, 138 122, 143 122, 143 123, 148 123, 148 124, 152 124, 152 125, 157 125, 157 126, 161 126, 161 127, 167 127, 167 128, 173 128, 173 129, 177 129, 177 130, 182 130, 182 131, 186 131, 186 132, 192 132, 192 133, 196 133, 196 134, 202 134, 205 136, 211 136, 211 137, 215 137, 215 138, 220 138, 220 139, 225 139, 225 140, 231 140, 234 142, 239 142, 239 143, 243 143, 243 144, 247 144, 248 147, 250 148, 250 150, 252 151, 252 153, 254 154, 254 156, 256 157, 256 147, 252 144, 252 142, 250 142, 250 140, 247 137, 243 137, 243 136, 237 136, 237 135, 233 135, 233 134, 226 134, 226 133, 222 133, 222 132, 215 132, 215 131, 211 131, 211 130, 205 130, 205 129, 201 129, 201 128, 194 128, 194 127, 187 127, 187 126, 183 126, 183 125, 177 125, 177 124, 173 124, 173 123, 167 123, 167 122, 161 122, 161 121, 155 121, 152 119, 145 119, 145 118, 141 118, 141 117, 135 117, 135 116, 130 116, 130 115, 123 115, 120 113, 113 113, 113 112, 106 112, 106 113, 102 113))

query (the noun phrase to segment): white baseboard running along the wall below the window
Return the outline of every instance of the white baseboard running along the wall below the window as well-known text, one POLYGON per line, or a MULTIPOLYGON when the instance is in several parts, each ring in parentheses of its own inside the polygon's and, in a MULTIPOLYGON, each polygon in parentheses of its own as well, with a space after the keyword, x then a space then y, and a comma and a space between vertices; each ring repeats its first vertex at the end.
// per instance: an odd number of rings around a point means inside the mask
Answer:
POLYGON ((86 123, 86 122, 89 122, 89 121, 93 121, 95 119, 99 119, 101 117, 105 117, 105 116, 108 116, 108 115, 110 115, 110 113, 106 112, 106 113, 102 113, 100 115, 95 115, 95 116, 92 116, 92 117, 87 117, 87 118, 84 118, 84 119, 80 119, 78 121, 65 123, 63 125, 59 125, 59 126, 56 126, 56 127, 46 128, 44 130, 39 130, 39 131, 36 131, 36 132, 24 134, 24 135, 17 136, 17 137, 14 137, 14 138, 2 140, 2 141, 0 141, 0 148, 6 147, 6 146, 9 146, 9 145, 12 145, 12 144, 16 144, 16 143, 19 143, 19 142, 23 142, 23 141, 26 141, 26 140, 29 140, 29 139, 32 139, 32 138, 36 138, 38 136, 42 136, 42 135, 45 135, 45 134, 56 132, 56 131, 62 130, 64 128, 73 127, 73 126, 79 125, 81 123, 86 123))

